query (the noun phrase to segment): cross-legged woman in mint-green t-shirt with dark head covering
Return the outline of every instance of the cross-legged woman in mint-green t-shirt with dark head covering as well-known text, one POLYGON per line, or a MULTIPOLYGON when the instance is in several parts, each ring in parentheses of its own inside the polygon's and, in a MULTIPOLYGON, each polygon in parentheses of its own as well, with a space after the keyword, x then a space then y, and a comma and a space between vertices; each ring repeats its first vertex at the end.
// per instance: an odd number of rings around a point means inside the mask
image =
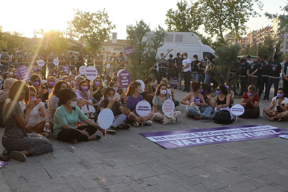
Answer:
POLYGON ((59 141, 98 140, 100 135, 93 135, 99 129, 103 136, 105 130, 98 126, 94 121, 88 119, 77 105, 77 96, 70 89, 63 89, 59 93, 59 103, 54 116, 54 135, 59 141), (86 126, 77 127, 78 120, 84 121, 86 126))

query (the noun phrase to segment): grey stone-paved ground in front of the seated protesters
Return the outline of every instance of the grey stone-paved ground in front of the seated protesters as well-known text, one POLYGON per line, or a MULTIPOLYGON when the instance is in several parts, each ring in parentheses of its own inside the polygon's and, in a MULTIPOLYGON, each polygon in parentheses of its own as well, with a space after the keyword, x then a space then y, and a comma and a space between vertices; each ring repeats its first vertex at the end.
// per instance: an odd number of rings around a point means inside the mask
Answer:
MULTIPOLYGON (((272 96, 272 91, 270 97, 272 96)), ((239 93, 239 91, 238 91, 239 93)), ((175 90, 180 100, 187 94, 175 90)), ((235 99, 235 104, 240 98, 235 99)), ((260 109, 270 101, 260 100, 260 109)), ((185 106, 177 107, 182 113, 185 106)), ((212 115, 211 115, 212 117, 212 115)), ((287 129, 287 122, 240 119, 231 126, 267 124, 287 129)), ((15 159, 0 168, 0 191, 82 192, 284 192, 288 191, 288 140, 266 138, 164 149, 139 132, 221 127, 213 121, 180 117, 175 124, 131 127, 97 141, 49 140, 53 153, 15 159), (75 147, 72 149, 70 147, 75 147)), ((2 137, 4 128, 0 128, 2 137)), ((97 132, 96 134, 99 134, 97 132)), ((3 151, 2 145, 0 151, 3 151)))

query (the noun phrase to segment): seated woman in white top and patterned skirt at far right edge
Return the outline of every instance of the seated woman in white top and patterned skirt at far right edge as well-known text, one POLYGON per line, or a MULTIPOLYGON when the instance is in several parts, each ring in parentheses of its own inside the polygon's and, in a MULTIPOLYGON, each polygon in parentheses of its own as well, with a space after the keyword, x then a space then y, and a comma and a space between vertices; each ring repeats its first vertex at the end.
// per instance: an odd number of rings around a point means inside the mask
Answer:
POLYGON ((272 99, 269 108, 264 108, 263 115, 270 117, 270 121, 274 121, 274 119, 288 120, 288 98, 285 95, 285 89, 278 88, 277 96, 272 99))

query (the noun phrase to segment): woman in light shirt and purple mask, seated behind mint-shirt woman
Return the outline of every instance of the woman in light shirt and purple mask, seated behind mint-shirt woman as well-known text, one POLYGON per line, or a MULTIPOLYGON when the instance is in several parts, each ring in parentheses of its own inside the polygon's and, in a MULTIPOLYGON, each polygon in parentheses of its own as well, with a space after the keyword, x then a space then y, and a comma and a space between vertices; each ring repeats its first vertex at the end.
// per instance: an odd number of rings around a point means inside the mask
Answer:
POLYGON ((90 86, 90 90, 88 89, 88 82, 83 80, 79 83, 79 90, 75 91, 77 95, 77 101, 86 101, 87 104, 81 107, 82 112, 86 115, 86 117, 90 119, 94 119, 94 104, 93 100, 93 87, 90 86))

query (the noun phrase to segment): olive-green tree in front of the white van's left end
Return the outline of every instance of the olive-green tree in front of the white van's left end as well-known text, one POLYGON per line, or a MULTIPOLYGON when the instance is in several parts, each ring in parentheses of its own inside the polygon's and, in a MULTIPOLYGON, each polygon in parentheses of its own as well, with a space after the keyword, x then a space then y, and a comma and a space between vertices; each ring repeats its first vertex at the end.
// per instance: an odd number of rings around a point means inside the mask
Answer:
POLYGON ((147 37, 147 33, 151 32, 149 24, 143 20, 136 21, 136 25, 127 25, 127 46, 134 48, 135 53, 131 57, 127 57, 126 68, 131 74, 132 81, 137 79, 145 79, 149 74, 149 69, 159 59, 156 56, 159 47, 162 47, 166 31, 158 26, 154 31, 154 35, 143 41, 147 37))

